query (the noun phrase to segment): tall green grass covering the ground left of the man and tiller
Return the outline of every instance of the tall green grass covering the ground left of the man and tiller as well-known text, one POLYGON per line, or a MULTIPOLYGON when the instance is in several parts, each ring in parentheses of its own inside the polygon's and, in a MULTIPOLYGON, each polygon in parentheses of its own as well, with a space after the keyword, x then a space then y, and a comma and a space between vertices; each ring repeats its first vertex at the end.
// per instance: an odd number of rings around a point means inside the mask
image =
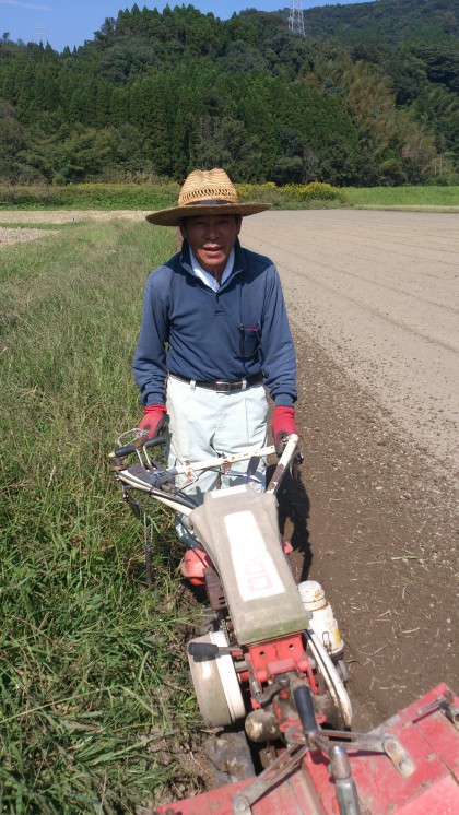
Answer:
POLYGON ((139 417, 131 358, 167 231, 114 221, 2 249, 0 811, 121 813, 176 780, 153 749, 198 729, 177 553, 107 453, 139 417))

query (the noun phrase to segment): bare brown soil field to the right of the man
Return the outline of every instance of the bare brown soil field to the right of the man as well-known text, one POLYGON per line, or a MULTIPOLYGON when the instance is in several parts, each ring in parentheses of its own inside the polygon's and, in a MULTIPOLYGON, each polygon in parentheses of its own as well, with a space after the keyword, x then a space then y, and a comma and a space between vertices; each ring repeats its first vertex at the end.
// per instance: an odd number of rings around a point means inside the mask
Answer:
POLYGON ((278 263, 296 340, 298 577, 327 589, 368 727, 458 683, 459 216, 270 212, 242 238, 278 263))

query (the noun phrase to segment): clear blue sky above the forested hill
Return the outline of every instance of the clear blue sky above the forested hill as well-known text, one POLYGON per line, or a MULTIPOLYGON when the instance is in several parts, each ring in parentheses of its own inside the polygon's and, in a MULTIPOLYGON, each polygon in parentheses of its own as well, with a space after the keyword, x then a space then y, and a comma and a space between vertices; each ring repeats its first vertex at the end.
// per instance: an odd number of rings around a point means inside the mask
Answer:
MULTIPOLYGON (((0 37, 10 34, 10 39, 24 43, 50 43, 52 48, 61 51, 66 45, 83 45, 85 39, 93 39, 106 17, 117 17, 120 9, 131 9, 136 0, 0 0, 0 37)), ((376 0, 374 0, 376 1, 376 0)), ((215 16, 226 20, 234 12, 243 9, 278 11, 290 5, 290 0, 169 0, 169 5, 195 5, 204 14, 212 11, 215 16)), ((340 5, 368 0, 340 0, 340 5)), ((140 9, 162 11, 166 0, 137 0, 140 9)), ((336 5, 337 0, 303 0, 303 8, 317 5, 336 5)))

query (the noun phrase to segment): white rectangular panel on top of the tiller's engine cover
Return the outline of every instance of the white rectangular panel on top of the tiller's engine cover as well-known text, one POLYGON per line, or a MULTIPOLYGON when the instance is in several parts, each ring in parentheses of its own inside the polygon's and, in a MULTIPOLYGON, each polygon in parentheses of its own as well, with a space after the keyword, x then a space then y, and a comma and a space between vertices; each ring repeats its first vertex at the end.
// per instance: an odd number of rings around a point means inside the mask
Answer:
POLYGON ((233 512, 224 519, 233 568, 245 601, 282 594, 284 586, 251 512, 233 512))

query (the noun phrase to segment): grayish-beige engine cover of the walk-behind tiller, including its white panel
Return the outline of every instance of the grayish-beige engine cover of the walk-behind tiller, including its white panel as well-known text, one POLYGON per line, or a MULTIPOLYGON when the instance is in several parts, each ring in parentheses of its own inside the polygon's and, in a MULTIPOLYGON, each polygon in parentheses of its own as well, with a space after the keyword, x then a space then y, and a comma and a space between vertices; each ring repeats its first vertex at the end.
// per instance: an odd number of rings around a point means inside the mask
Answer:
POLYGON ((239 645, 307 627, 282 552, 274 495, 246 485, 207 493, 189 521, 220 575, 239 645))

